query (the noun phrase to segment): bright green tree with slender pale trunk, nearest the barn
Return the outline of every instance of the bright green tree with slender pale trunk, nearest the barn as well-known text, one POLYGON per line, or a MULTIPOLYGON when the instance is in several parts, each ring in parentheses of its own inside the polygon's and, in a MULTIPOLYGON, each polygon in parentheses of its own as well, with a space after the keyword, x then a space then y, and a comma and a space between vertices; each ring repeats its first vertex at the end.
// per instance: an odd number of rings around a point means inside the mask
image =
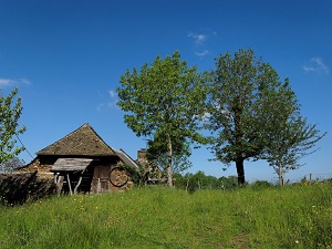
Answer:
POLYGON ((137 136, 164 141, 167 184, 173 186, 175 144, 180 148, 178 142, 186 144, 199 138, 197 118, 205 103, 204 75, 196 66, 189 68, 186 61, 180 61, 180 53, 176 51, 164 60, 157 56, 139 71, 127 70, 116 91, 121 100, 117 105, 125 112, 128 127, 137 136))

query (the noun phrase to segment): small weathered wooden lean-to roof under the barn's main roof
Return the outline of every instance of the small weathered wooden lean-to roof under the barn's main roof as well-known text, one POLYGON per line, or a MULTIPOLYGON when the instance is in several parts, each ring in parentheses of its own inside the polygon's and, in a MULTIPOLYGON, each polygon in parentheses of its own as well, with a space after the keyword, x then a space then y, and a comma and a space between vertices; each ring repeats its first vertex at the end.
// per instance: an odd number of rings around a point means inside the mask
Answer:
POLYGON ((51 172, 77 172, 84 170, 93 159, 85 158, 59 158, 52 166, 51 172))

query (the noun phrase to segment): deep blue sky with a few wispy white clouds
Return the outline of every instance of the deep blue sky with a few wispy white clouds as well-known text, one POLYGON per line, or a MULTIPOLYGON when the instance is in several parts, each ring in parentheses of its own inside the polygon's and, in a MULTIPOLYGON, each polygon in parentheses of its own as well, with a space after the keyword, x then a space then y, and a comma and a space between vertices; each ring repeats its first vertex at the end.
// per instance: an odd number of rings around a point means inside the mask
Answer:
MULTIPOLYGON (((126 69, 178 50, 189 65, 212 70, 219 54, 248 48, 290 79, 303 116, 328 132, 286 178, 332 177, 331 0, 0 0, 0 87, 20 90, 28 128, 20 138, 33 156, 90 123, 135 159, 146 142, 116 106, 126 69)), ((189 172, 236 175, 235 165, 222 172, 209 158, 193 149, 189 172)), ((277 177, 264 162, 246 162, 245 170, 248 180, 277 177)))

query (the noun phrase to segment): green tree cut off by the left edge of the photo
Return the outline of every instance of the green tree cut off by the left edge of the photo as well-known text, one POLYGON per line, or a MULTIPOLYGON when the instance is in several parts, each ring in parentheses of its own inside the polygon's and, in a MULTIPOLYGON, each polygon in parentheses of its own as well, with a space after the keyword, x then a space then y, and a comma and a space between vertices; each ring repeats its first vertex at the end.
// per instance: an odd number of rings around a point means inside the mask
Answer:
POLYGON ((19 118, 22 113, 21 98, 18 97, 18 89, 8 96, 0 92, 0 164, 19 155, 24 147, 17 146, 14 136, 22 134, 25 127, 19 127, 19 118))

